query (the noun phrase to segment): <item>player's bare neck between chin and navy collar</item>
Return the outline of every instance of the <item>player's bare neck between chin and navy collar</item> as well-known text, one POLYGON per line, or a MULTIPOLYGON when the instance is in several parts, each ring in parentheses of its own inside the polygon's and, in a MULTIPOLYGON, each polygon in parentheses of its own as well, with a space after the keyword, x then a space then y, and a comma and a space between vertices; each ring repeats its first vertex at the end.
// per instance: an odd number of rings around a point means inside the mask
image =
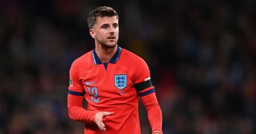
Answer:
POLYGON ((95 45, 95 51, 102 63, 109 62, 111 57, 114 56, 114 53, 117 51, 117 49, 118 45, 115 45, 113 48, 104 47, 102 45, 95 45))

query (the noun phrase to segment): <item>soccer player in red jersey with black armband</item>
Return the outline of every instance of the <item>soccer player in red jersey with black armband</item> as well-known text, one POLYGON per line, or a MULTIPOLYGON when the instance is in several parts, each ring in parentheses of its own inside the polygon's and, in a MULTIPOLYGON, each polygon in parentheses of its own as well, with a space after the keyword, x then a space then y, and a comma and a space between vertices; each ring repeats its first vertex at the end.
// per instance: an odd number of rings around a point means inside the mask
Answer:
POLYGON ((71 120, 85 122, 84 133, 140 134, 138 99, 153 134, 162 134, 162 112, 146 62, 118 46, 118 14, 108 6, 87 18, 95 49, 70 67, 67 107, 71 120), (83 97, 87 106, 82 108, 83 97))

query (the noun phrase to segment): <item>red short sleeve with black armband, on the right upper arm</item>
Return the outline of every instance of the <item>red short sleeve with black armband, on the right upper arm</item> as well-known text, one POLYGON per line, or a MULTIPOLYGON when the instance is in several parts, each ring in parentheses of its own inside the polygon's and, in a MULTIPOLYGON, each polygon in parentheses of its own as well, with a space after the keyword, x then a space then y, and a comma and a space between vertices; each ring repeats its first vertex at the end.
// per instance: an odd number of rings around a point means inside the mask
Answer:
POLYGON ((150 79, 150 69, 142 58, 138 60, 135 71, 134 88, 137 90, 140 97, 154 93, 154 86, 152 85, 150 79))

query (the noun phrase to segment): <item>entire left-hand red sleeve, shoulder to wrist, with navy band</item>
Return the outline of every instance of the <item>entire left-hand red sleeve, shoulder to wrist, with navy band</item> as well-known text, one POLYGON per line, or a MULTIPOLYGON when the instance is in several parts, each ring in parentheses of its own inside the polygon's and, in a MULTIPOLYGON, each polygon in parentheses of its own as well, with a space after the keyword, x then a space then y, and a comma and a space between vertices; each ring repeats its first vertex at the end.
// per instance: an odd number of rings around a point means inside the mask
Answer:
POLYGON ((85 108, 82 108, 84 90, 77 72, 77 65, 74 62, 70 67, 70 85, 67 96, 68 113, 71 120, 92 122, 96 112, 87 111, 85 108))

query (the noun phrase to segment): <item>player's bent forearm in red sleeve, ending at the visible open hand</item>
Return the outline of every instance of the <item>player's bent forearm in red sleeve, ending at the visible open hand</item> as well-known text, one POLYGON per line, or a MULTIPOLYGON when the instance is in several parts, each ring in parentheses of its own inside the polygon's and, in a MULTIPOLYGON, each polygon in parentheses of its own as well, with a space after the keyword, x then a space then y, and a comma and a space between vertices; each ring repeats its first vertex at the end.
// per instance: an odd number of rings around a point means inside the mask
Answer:
POLYGON ((92 122, 96 112, 82 108, 82 97, 68 94, 67 108, 71 120, 92 122))

